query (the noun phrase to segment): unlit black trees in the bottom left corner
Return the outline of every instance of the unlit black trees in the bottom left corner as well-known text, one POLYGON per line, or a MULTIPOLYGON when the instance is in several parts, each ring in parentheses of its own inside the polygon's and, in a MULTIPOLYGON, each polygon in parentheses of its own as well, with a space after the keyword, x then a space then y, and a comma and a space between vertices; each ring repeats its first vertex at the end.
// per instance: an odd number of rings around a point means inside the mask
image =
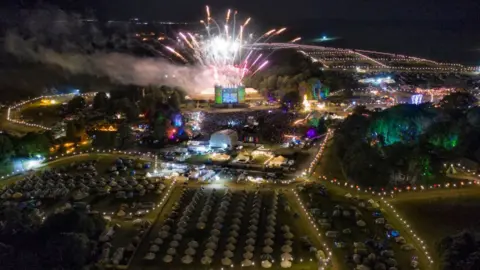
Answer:
POLYGON ((98 214, 70 209, 42 217, 29 209, 0 211, 0 268, 85 269, 97 261, 106 222, 98 214))

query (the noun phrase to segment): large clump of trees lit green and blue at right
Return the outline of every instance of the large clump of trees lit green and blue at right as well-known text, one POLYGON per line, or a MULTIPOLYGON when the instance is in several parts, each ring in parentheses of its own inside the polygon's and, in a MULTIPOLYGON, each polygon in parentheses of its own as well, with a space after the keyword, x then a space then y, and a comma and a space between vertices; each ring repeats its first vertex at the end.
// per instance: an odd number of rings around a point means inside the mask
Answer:
POLYGON ((333 150, 347 177, 370 187, 436 183, 444 163, 480 161, 480 109, 468 93, 380 112, 356 107, 339 124, 333 150))

